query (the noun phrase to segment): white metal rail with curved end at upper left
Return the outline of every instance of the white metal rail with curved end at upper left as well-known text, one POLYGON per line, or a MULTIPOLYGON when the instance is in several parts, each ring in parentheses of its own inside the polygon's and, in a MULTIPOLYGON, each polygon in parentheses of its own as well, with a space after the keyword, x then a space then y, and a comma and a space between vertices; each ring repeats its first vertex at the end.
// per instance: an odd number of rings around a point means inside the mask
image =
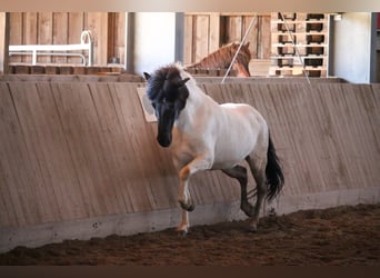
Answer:
POLYGON ((32 64, 37 64, 37 56, 72 56, 82 58, 83 66, 92 66, 93 59, 93 42, 91 40, 91 32, 88 30, 82 31, 80 36, 80 43, 78 44, 23 44, 23 46, 9 46, 9 56, 16 54, 31 54, 32 64), (52 52, 52 51, 72 51, 72 50, 87 50, 88 63, 82 53, 70 52, 52 52))

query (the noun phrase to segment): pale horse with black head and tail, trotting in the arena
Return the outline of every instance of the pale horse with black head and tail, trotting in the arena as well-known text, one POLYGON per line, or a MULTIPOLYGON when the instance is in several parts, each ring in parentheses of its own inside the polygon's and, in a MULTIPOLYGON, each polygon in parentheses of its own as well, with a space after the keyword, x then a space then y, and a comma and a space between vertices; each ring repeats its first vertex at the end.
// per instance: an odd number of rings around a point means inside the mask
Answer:
POLYGON ((179 63, 143 75, 146 93, 158 119, 157 141, 163 148, 170 147, 179 176, 182 216, 177 230, 186 235, 190 228, 188 212, 194 209, 190 177, 198 171, 220 169, 239 181, 240 209, 249 217, 249 230, 256 231, 264 197, 272 200, 284 183, 264 118, 246 103, 217 103, 179 63), (256 180, 254 207, 247 195, 243 161, 256 180))

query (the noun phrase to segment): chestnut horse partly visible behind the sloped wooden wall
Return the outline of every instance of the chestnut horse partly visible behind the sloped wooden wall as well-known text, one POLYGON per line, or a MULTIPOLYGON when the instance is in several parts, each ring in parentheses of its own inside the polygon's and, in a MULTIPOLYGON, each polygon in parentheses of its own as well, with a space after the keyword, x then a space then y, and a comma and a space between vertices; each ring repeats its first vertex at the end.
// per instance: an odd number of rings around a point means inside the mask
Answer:
MULTIPOLYGON (((199 62, 186 67, 186 69, 228 69, 238 49, 239 43, 229 43, 204 57, 199 62)), ((232 64, 232 69, 237 71, 237 77, 250 77, 248 67, 250 60, 251 52, 249 51, 249 42, 247 42, 241 46, 232 64)))

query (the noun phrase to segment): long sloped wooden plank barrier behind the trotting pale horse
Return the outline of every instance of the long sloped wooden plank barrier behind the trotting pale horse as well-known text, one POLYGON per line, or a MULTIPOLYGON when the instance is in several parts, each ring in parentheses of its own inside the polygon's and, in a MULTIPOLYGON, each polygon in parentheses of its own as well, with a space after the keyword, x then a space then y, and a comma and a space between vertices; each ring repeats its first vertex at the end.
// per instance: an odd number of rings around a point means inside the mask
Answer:
MULTIPOLYGON (((142 85, 0 81, 0 251, 89 238, 96 234, 80 226, 86 219, 131 217, 138 231, 171 219, 149 217, 178 210, 178 179, 169 151, 156 142, 157 123, 143 118, 142 85), (57 236, 73 222, 72 234, 57 236)), ((380 200, 379 85, 201 87, 219 102, 251 103, 268 120, 286 175, 278 212, 286 202, 294 210, 380 200), (346 192, 354 198, 344 199, 346 192)), ((190 190, 198 206, 239 200, 239 186, 220 171, 196 175, 190 190)), ((133 229, 129 224, 122 232, 133 229)))

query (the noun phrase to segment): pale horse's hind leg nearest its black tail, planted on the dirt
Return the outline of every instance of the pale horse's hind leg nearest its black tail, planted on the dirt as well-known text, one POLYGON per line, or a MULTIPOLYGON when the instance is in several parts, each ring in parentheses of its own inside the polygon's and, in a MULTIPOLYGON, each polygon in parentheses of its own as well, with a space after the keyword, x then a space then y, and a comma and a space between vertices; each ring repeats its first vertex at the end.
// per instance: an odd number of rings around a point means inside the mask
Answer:
POLYGON ((257 200, 254 205, 254 212, 252 214, 251 218, 251 230, 257 230, 257 225, 259 222, 260 216, 260 208, 262 206, 262 201, 267 195, 267 183, 266 183, 266 165, 267 165, 267 157, 264 156, 262 159, 253 160, 250 156, 246 158, 249 167, 251 168, 252 176, 256 181, 256 195, 257 200))

